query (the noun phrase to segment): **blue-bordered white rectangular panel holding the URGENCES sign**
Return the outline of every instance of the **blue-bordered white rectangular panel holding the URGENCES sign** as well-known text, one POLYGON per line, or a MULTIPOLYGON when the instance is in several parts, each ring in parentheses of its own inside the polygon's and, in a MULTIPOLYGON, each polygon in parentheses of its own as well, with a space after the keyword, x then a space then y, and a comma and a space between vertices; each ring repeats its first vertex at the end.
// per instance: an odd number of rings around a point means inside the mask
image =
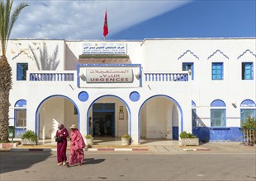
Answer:
POLYGON ((78 64, 78 87, 140 87, 140 64, 78 64))

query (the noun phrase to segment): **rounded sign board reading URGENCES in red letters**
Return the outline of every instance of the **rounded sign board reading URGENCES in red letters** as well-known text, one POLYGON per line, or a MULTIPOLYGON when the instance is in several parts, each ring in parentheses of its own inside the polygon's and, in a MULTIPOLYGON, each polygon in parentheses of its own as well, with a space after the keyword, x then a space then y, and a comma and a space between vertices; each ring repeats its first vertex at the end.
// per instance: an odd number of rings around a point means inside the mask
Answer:
POLYGON ((133 81, 132 69, 87 69, 88 83, 130 83, 133 81))

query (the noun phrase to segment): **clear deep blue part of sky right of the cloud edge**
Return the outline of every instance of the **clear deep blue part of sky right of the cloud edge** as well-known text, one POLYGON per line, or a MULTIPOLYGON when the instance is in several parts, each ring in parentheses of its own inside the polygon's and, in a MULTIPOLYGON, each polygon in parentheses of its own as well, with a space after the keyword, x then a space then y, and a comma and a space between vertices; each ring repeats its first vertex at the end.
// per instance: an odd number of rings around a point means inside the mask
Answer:
POLYGON ((108 39, 256 37, 255 2, 190 2, 115 35, 110 34, 108 39))

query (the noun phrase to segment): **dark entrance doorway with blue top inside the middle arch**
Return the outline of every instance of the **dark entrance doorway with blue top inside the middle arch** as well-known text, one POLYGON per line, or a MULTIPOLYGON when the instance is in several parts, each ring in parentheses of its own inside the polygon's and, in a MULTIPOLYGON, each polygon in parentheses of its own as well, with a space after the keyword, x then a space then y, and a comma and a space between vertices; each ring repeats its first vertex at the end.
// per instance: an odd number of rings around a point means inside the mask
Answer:
POLYGON ((115 104, 96 103, 92 105, 92 136, 115 137, 115 104))

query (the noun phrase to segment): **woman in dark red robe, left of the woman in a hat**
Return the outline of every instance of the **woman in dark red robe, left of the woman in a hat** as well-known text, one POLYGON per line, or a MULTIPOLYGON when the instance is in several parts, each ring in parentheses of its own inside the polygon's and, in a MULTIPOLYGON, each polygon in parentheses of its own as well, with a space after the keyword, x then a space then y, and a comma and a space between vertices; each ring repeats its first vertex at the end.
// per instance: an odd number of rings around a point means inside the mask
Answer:
POLYGON ((64 124, 59 123, 58 131, 56 132, 55 138, 61 137, 61 140, 57 142, 57 160, 58 165, 66 165, 67 156, 67 137, 69 137, 69 132, 66 128, 64 128, 64 124))

